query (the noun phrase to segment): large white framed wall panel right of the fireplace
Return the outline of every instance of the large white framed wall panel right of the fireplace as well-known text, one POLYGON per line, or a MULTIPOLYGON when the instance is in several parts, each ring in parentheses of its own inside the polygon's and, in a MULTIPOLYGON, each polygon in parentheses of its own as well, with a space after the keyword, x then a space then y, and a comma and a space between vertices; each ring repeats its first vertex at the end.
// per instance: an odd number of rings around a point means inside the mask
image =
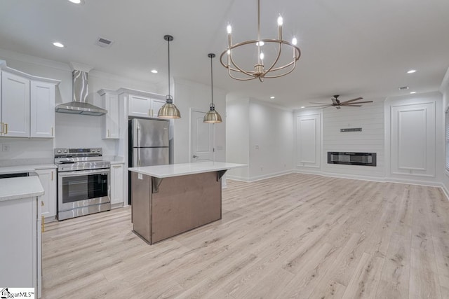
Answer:
POLYGON ((391 173, 435 176, 435 103, 391 107, 391 173))

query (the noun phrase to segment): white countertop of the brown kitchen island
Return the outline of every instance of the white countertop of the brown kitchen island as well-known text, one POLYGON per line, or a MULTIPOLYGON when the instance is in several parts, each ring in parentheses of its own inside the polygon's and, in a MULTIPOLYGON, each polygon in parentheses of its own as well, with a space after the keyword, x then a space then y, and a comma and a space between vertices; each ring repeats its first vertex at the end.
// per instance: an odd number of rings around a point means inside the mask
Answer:
POLYGON ((185 176, 188 174, 201 174, 203 172, 217 172, 231 168, 244 167, 245 164, 227 163, 227 162, 196 162, 169 164, 145 167, 129 168, 130 172, 138 172, 147 176, 156 178, 168 178, 171 176, 185 176))

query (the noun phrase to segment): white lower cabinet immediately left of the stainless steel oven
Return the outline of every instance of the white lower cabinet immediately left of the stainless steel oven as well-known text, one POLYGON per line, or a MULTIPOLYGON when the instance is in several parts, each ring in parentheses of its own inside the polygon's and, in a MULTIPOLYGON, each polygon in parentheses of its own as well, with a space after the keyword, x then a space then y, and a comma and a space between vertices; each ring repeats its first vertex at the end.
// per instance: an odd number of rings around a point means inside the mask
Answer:
POLYGON ((36 173, 45 191, 45 194, 39 197, 41 216, 54 220, 56 217, 56 169, 39 169, 36 173))

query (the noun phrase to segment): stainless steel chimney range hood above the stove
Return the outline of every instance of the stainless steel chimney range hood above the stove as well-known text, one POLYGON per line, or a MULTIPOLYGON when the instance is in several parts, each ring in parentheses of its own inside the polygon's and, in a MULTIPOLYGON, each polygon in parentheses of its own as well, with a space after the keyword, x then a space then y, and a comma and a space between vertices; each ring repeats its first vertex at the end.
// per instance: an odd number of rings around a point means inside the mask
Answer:
POLYGON ((87 102, 88 73, 74 70, 72 73, 73 101, 56 106, 59 113, 83 114, 85 116, 102 116, 107 110, 94 106, 87 102))

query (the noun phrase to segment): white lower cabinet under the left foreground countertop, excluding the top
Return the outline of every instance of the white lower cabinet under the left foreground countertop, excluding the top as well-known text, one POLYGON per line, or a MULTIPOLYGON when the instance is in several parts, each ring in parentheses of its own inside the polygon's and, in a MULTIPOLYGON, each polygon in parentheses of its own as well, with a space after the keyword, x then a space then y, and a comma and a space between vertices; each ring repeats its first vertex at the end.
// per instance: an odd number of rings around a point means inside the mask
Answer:
POLYGON ((38 202, 39 197, 0 201, 1 287, 34 288, 36 298, 41 293, 38 202))

